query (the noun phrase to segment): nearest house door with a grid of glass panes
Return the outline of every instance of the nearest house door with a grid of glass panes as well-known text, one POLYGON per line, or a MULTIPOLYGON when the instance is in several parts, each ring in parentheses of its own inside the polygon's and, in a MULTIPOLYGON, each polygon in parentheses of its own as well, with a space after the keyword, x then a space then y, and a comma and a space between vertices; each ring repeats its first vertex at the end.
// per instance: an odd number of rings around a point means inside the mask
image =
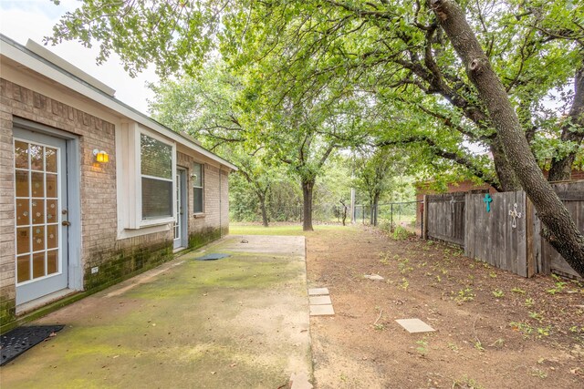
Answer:
MULTIPOLYGON (((33 134, 33 133, 31 133, 33 134)), ((36 138, 43 138, 35 134, 36 138)), ((65 141, 15 138, 16 303, 67 287, 65 141)))

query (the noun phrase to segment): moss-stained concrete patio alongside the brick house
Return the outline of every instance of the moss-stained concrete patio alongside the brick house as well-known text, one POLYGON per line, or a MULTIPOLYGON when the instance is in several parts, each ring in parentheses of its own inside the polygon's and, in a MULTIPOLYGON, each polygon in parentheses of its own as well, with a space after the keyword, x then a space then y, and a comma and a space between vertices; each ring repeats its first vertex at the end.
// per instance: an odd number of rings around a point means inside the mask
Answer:
POLYGON ((230 236, 203 251, 34 322, 66 327, 3 366, 1 386, 310 387, 304 237, 230 236), (203 251, 231 256, 194 261, 203 251))

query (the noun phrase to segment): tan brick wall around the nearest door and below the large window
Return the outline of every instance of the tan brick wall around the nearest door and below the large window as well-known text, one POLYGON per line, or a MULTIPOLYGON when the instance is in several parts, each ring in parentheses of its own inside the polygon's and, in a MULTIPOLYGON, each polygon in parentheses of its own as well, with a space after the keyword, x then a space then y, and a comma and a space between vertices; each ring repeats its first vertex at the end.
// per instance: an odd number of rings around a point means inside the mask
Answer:
MULTIPOLYGON (((15 319, 15 183, 12 134, 15 117, 78 135, 82 235, 80 263, 85 273, 86 290, 119 282, 131 274, 172 258, 172 230, 117 240, 114 125, 33 90, 0 79, 0 320, 3 323, 15 319), (94 148, 108 152, 110 162, 95 163, 94 148), (93 266, 99 266, 99 273, 90 273, 93 266)), ((213 173, 210 173, 210 180, 207 187, 213 185, 213 173)), ((209 197, 209 207, 214 209, 211 200, 213 194, 209 197)))

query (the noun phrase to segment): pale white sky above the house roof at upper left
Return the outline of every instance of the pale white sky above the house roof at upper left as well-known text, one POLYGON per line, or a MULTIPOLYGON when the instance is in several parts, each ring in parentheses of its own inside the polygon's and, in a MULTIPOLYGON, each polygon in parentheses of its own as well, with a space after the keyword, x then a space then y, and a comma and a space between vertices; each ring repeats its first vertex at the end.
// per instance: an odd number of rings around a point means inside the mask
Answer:
MULTIPOLYGON (((75 0, 61 0, 54 5, 50 0, 0 0, 0 33, 26 45, 30 38, 43 44, 43 37, 52 33, 52 27, 59 17, 79 5, 75 0)), ((97 48, 86 48, 77 42, 63 42, 47 49, 80 68, 90 76, 116 90, 115 97, 130 107, 148 114, 147 99, 154 94, 146 87, 147 82, 157 83, 159 78, 153 67, 131 78, 120 64, 120 58, 113 54, 107 63, 96 65, 97 48)))

